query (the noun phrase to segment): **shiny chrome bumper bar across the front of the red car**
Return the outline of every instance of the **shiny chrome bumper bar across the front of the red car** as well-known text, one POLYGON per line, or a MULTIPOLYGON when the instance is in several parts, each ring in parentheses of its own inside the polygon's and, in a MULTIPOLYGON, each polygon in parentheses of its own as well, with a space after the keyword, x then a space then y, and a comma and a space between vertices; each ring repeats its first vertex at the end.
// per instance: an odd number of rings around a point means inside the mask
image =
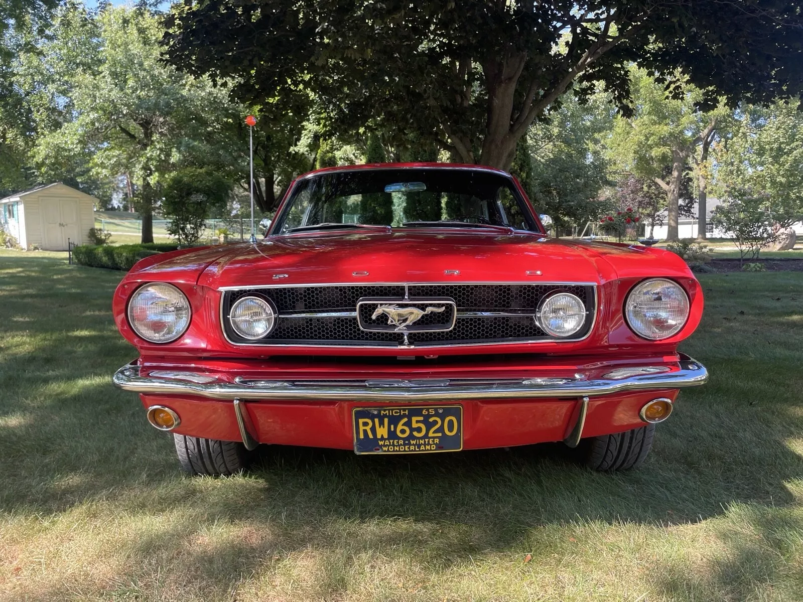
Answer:
POLYGON ((531 397, 596 397, 647 389, 695 387, 708 372, 688 356, 666 364, 626 364, 593 374, 519 379, 367 379, 367 380, 225 380, 212 372, 151 370, 136 364, 120 368, 114 384, 126 391, 195 395, 210 399, 281 401, 461 401, 531 397))

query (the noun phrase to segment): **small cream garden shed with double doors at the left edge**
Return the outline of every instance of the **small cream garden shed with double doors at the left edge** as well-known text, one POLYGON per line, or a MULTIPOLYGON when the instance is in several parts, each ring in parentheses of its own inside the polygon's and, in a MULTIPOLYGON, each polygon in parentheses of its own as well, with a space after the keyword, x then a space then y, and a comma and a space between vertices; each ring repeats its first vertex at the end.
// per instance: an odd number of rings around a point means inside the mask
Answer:
POLYGON ((97 201, 55 182, 0 198, 0 222, 23 249, 67 250, 67 240, 76 245, 89 242, 97 201))

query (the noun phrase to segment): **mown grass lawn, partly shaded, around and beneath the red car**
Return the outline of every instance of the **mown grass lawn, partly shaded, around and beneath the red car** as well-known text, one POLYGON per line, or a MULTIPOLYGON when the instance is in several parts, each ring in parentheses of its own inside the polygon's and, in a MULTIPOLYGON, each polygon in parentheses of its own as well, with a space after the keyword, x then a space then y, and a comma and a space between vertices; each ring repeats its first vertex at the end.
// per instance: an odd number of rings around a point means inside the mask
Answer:
POLYGON ((653 454, 268 448, 183 476, 112 387, 120 272, 0 250, 0 600, 803 600, 803 274, 702 275, 653 454), (529 558, 529 561, 525 561, 529 558))

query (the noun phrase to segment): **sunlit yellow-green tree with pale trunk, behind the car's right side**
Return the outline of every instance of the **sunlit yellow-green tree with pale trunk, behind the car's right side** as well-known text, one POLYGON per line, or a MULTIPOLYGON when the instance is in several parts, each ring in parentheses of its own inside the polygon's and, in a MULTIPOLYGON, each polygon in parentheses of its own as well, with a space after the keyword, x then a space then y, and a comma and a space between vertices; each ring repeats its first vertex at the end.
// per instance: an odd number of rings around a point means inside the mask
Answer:
MULTIPOLYGON (((666 96, 666 89, 645 70, 631 69, 634 112, 620 116, 609 140, 613 161, 625 171, 646 177, 666 193, 667 240, 678 239, 678 219, 684 177, 695 149, 704 144, 699 162, 707 159, 716 120, 726 111, 723 104, 711 111, 699 110, 705 92, 678 75, 679 93, 666 96)), ((705 202, 705 180, 701 187, 705 202)), ((701 210, 702 212, 702 210, 701 210)), ((704 226, 703 226, 704 231, 704 226)))

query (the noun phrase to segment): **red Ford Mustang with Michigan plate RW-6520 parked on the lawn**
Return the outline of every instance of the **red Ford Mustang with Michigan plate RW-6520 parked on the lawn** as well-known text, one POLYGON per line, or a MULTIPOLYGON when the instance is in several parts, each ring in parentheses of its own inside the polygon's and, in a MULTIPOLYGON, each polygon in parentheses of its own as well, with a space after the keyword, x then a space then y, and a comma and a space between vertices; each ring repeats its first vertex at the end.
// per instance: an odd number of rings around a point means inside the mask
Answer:
POLYGON ((139 360, 115 383, 181 466, 259 444, 418 454, 565 441, 640 465, 680 388, 703 291, 677 255, 551 238, 476 165, 299 177, 265 238, 145 258, 114 297, 139 360))

